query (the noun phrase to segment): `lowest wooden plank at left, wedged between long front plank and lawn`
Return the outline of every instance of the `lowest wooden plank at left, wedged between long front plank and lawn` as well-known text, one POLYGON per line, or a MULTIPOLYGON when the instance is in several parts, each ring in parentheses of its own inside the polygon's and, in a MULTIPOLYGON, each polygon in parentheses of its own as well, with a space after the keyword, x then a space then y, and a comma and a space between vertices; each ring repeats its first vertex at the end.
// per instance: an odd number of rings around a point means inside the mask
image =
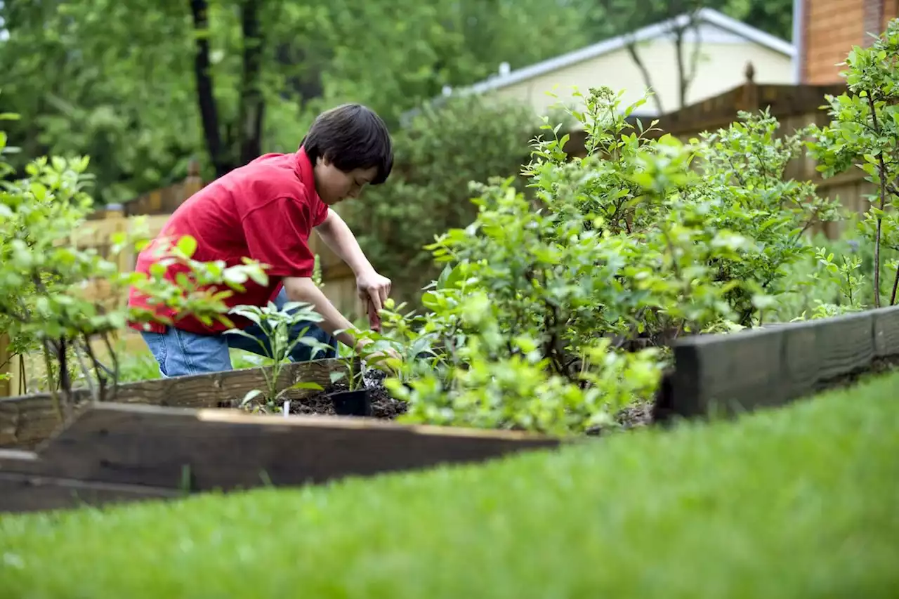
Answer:
POLYGON ((0 512, 38 512, 150 499, 174 499, 182 493, 167 488, 111 485, 72 478, 0 472, 0 512))

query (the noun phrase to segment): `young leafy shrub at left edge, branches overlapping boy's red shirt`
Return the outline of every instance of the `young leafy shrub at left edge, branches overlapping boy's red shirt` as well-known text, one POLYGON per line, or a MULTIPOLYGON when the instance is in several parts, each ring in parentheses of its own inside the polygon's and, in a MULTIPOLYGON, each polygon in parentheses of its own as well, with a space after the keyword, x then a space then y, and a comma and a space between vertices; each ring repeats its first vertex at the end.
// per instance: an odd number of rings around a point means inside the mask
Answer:
MULTIPOLYGON (((7 149, 5 141, 0 132, 0 156, 7 149)), ((147 311, 132 311, 93 297, 98 286, 109 295, 123 297, 134 284, 154 303, 179 308, 182 314, 205 322, 213 318, 227 322, 223 299, 230 290, 240 289, 250 277, 266 279, 260 264, 226 268, 191 260, 196 248, 191 237, 164 248, 165 261, 191 266, 191 272, 182 277, 186 288, 166 282, 162 267, 157 266, 149 277, 120 273, 95 248, 76 246, 73 238, 89 228, 87 216, 93 208, 85 192, 87 164, 86 157, 40 157, 25 166, 25 177, 0 182, 0 330, 10 335, 16 351, 43 355, 60 417, 66 416, 71 404, 74 372, 81 373, 94 400, 105 399, 118 378, 111 335, 129 319, 157 319, 147 311), (111 367, 94 351, 92 342, 97 340, 109 353, 111 367)), ((0 159, 0 176, 12 173, 12 167, 0 159)), ((111 257, 129 244, 143 243, 146 239, 120 235, 111 247, 111 257)))

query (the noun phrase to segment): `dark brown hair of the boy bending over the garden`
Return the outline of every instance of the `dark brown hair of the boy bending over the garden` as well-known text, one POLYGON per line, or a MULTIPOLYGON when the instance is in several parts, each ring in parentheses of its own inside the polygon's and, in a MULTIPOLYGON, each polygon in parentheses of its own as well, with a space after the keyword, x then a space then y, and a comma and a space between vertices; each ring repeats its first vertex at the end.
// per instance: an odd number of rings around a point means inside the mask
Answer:
POLYGON ((372 185, 387 181, 393 168, 393 144, 387 125, 361 104, 342 104, 322 112, 299 145, 313 165, 321 156, 344 173, 377 168, 372 185))

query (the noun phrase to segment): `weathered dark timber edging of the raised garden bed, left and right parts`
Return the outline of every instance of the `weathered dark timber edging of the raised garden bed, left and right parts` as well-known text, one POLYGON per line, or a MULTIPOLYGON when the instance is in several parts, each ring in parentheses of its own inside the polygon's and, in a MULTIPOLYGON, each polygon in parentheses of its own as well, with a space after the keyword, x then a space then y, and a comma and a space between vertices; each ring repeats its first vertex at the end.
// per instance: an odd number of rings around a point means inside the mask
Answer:
MULTIPOLYGON (((850 384, 899 362, 899 307, 729 335, 699 335, 674 346, 652 414, 634 407, 625 425, 679 417, 732 416, 784 405, 850 384)), ((259 416, 235 407, 260 389, 251 369, 121 385, 113 403, 76 393, 76 416, 61 425, 49 396, 0 400, 0 511, 106 503, 260 485, 315 484, 349 475, 486 460, 563 443, 543 435, 399 425, 404 407, 375 391, 370 416, 333 416, 331 373, 343 362, 292 364, 290 414, 259 416), (143 405, 140 405, 143 404, 143 405), (76 500, 73 492, 81 497, 76 500)), ((378 385, 374 385, 378 389, 378 385)))

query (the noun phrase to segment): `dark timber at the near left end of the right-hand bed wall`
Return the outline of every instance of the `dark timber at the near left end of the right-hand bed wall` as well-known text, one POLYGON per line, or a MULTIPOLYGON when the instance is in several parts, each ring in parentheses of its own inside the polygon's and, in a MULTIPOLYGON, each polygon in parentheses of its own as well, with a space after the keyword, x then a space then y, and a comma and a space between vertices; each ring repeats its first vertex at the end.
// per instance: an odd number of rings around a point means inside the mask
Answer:
POLYGON ((784 326, 730 335, 696 335, 674 345, 672 410, 725 414, 782 401, 784 326))

